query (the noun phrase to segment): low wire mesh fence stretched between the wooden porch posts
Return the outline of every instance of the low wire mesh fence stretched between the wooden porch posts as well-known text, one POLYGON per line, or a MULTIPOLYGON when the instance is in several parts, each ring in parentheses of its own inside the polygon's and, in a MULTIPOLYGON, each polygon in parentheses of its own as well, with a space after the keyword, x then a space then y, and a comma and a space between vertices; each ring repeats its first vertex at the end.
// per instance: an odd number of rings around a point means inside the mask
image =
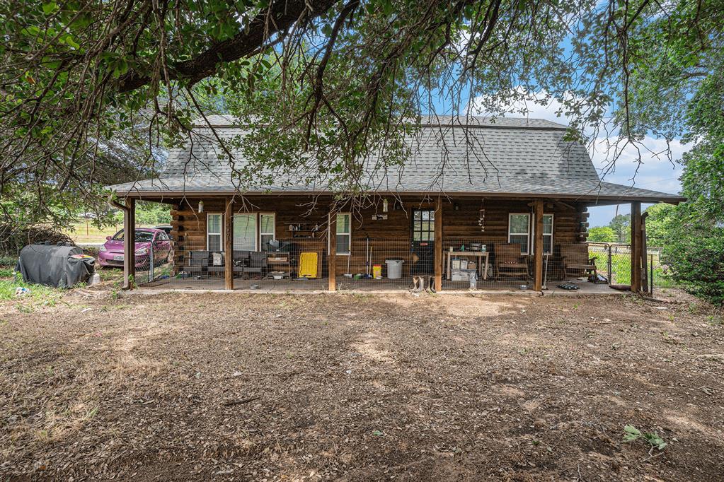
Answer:
MULTIPOLYGON (((243 246, 235 242, 235 247, 243 246)), ((418 287, 424 289, 434 280, 433 240, 357 238, 342 247, 348 252, 337 252, 337 289, 406 290, 414 288, 413 280, 421 281, 418 287)), ((482 237, 445 237, 441 249, 443 290, 532 288, 533 256, 524 252, 521 244, 482 237)), ((662 275, 666 267, 660 262, 659 251, 651 251, 654 285, 667 286, 670 281, 662 275)), ((233 288, 327 290, 328 252, 327 241, 321 238, 277 239, 267 242, 263 251, 234 249, 233 288)), ((211 250, 204 241, 181 238, 137 243, 135 256, 134 281, 138 286, 226 288, 224 251, 211 250)), ((122 267, 122 258, 118 263, 122 267)), ((553 244, 543 263, 546 287, 580 283, 594 274, 604 275, 610 284, 631 283, 628 244, 553 244)))

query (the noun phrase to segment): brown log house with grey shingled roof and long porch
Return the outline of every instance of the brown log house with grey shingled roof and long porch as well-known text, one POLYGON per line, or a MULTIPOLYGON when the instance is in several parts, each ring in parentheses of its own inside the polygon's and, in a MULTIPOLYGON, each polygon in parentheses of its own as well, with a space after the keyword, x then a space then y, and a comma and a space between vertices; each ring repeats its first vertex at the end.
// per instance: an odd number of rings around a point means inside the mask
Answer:
MULTIPOLYGON (((474 272, 491 287, 512 278, 540 290, 546 279, 592 272, 581 247, 589 207, 631 203, 630 283, 645 288, 641 203, 682 197, 602 181, 586 146, 552 121, 430 116, 414 127, 407 160, 387 168, 366 160, 366 192, 342 200, 307 172, 240 191, 234 173, 246 161, 233 152, 230 163, 217 137, 245 130, 227 116, 199 121, 158 178, 111 188, 125 198, 127 233, 136 199, 172 205, 167 279, 216 279, 227 289, 273 278, 322 280, 329 290, 380 278, 401 287, 422 276, 439 290, 474 272)), ((128 280, 133 236, 124 239, 116 259, 128 280)))

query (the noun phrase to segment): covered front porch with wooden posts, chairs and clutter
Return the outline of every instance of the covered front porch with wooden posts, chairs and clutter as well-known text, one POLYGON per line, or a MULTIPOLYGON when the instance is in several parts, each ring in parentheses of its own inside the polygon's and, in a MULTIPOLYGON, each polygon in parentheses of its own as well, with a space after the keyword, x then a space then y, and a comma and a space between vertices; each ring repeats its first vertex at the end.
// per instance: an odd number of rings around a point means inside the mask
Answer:
MULTIPOLYGON (((134 202, 123 206, 129 233, 134 202)), ((126 236, 128 288, 620 293, 589 283, 593 272, 631 291, 647 286, 640 202, 631 203, 628 272, 613 276, 611 254, 585 242, 586 205, 560 199, 380 197, 356 212, 322 202, 306 217, 290 197, 164 202, 174 207, 172 248, 138 267, 126 236)))

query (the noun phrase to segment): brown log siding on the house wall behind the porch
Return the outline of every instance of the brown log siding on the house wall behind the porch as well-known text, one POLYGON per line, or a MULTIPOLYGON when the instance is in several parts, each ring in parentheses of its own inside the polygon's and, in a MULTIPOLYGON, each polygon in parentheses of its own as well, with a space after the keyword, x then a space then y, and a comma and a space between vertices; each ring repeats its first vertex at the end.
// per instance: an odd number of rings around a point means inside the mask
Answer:
MULTIPOLYGON (((374 264, 383 264, 384 259, 399 257, 405 260, 409 268, 414 261, 411 253, 411 218, 415 208, 434 209, 434 199, 421 197, 402 197, 395 200, 387 197, 389 209, 387 220, 372 220, 372 215, 382 214, 382 202, 370 202, 369 206, 352 208, 342 206, 340 212, 352 213, 352 236, 350 256, 337 256, 337 275, 345 272, 365 272, 366 245, 372 250, 374 264)), ((378 199, 379 201, 379 199, 378 199)), ((169 202, 168 199, 165 202, 169 202)), ((330 206, 329 198, 292 195, 269 195, 266 197, 245 197, 243 202, 237 199, 233 212, 269 212, 276 215, 277 239, 292 237, 290 224, 308 223, 319 225, 316 238, 324 240, 324 252, 327 256, 327 219, 330 206)), ((190 199, 173 202, 171 236, 182 249, 206 249, 206 217, 209 213, 222 214, 225 208, 224 197, 204 197, 203 212, 198 212, 198 200, 190 199)), ((484 244, 508 242, 508 215, 510 213, 531 213, 532 202, 526 199, 485 199, 480 198, 442 198, 442 237, 443 249, 461 240, 479 241, 484 244), (479 210, 485 209, 484 232, 478 224, 479 210)), ((586 240, 586 207, 578 203, 563 203, 553 200, 544 202, 544 213, 552 214, 553 243, 576 243, 586 240)), ((181 257, 182 254, 177 256, 181 257)), ((177 259, 177 266, 182 259, 177 259)), ((324 262, 323 275, 327 275, 327 263, 324 262)), ((431 273, 432 274, 432 273, 431 273)))

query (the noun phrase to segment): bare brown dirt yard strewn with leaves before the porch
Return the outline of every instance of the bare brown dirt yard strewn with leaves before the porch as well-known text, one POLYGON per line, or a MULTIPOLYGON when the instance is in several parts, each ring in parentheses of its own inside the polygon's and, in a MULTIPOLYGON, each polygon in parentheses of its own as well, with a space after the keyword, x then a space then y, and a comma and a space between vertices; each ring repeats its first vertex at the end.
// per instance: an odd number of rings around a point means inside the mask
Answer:
POLYGON ((75 291, 22 311, 0 305, 2 480, 724 476, 724 329, 686 297, 75 291))

